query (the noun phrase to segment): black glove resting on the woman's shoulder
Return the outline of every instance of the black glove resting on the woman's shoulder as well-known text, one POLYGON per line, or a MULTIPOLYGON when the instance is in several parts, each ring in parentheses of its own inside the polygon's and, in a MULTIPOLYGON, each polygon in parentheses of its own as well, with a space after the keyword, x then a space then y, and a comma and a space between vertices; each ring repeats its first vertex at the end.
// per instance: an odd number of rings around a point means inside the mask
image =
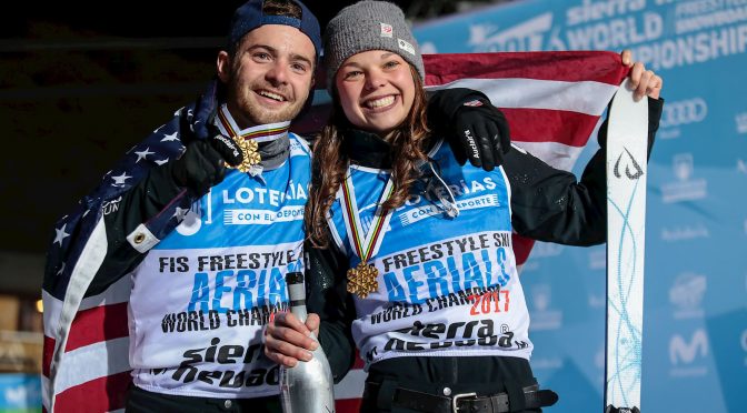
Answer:
MULTIPOLYGON (((504 153, 511 144, 508 121, 504 113, 481 99, 465 102, 451 120, 456 140, 454 155, 460 164, 467 159, 472 167, 492 171, 504 163, 504 153)), ((450 134, 448 134, 450 135, 450 134)))

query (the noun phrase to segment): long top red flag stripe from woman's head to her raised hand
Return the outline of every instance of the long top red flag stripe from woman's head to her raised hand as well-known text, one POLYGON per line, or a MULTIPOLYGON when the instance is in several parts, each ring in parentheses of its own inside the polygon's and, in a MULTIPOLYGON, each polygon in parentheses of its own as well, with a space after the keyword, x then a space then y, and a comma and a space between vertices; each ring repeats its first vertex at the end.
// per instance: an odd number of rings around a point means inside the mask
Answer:
POLYGON ((471 79, 539 79, 618 85, 628 68, 615 52, 504 52, 424 54, 426 84, 471 79), (527 64, 530 61, 531 64, 527 64), (486 69, 487 68, 487 69, 486 69), (495 70, 490 68, 496 68, 495 70), (438 73, 438 74, 436 74, 438 73))

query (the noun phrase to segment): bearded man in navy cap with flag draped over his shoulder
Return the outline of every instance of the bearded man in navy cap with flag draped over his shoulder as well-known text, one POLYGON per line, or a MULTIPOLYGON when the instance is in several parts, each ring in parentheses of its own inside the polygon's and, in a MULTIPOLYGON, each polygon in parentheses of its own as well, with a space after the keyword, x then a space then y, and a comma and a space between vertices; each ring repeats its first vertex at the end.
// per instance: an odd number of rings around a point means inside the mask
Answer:
MULTIPOLYGON (((311 164, 288 128, 309 103, 320 43, 298 0, 241 6, 218 81, 58 222, 43 292, 48 411, 121 409, 130 370, 131 411, 280 410, 261 333, 287 309, 285 274, 303 268, 311 164)), ((444 113, 482 151, 470 162, 492 168, 507 134, 461 103, 444 113), (485 139, 471 140, 474 121, 485 139)))

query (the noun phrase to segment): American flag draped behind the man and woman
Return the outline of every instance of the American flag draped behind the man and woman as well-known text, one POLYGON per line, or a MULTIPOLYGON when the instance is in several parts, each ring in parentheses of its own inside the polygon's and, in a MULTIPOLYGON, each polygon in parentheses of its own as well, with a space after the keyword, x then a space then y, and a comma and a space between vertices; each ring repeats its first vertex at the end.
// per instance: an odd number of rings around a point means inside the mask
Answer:
MULTIPOLYGON (((485 92, 506 113, 515 143, 564 170, 572 168, 628 71, 612 52, 431 54, 424 59, 429 88, 461 87, 485 92)), ((213 95, 206 93, 207 99, 213 95)), ((76 212, 57 223, 42 292, 47 411, 123 409, 130 383, 127 305, 131 281, 123 278, 99 295, 82 298, 107 249, 101 218, 149 168, 168 162, 183 150, 179 138, 186 124, 192 124, 198 137, 207 134, 203 125, 193 122, 205 117, 195 113, 213 103, 199 102, 196 108, 175 113, 171 122, 132 148, 76 212)), ((308 119, 319 121, 321 117, 308 119)), ((308 123, 305 130, 309 130, 308 123)), ((162 238, 176 221, 163 219, 148 224, 162 238)), ((515 236, 519 265, 526 262, 531 245, 530 240, 515 236)), ((358 363, 336 386, 339 412, 358 410, 365 377, 361 367, 358 363)))

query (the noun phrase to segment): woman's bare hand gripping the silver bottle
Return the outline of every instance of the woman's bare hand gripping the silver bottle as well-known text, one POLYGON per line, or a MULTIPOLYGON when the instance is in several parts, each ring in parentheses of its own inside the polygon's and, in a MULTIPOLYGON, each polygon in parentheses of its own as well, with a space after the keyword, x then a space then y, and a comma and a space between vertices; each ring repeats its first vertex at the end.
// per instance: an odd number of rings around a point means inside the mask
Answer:
POLYGON ((310 351, 319 346, 311 333, 319 336, 319 315, 309 314, 303 324, 292 313, 278 313, 265 330, 265 355, 288 367, 299 360, 309 361, 310 351))

